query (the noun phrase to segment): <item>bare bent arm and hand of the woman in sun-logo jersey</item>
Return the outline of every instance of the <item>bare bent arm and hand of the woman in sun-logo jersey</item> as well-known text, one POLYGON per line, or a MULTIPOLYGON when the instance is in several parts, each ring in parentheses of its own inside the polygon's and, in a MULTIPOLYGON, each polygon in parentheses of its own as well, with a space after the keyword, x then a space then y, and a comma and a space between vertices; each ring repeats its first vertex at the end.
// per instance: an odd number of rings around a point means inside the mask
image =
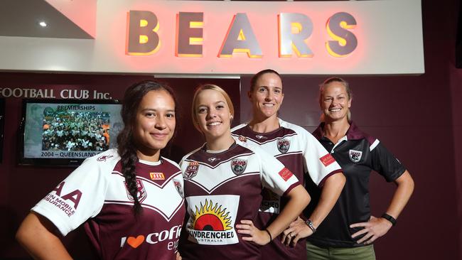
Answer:
POLYGON ((311 200, 310 195, 308 195, 302 185, 297 185, 293 188, 287 194, 287 197, 289 197, 289 202, 287 202, 284 210, 281 211, 266 230, 257 229, 251 220, 241 220, 241 224, 236 225, 237 232, 249 235, 249 237, 242 237, 242 240, 254 242, 259 245, 268 244, 271 242, 271 239, 281 234, 291 222, 296 220, 311 200))

